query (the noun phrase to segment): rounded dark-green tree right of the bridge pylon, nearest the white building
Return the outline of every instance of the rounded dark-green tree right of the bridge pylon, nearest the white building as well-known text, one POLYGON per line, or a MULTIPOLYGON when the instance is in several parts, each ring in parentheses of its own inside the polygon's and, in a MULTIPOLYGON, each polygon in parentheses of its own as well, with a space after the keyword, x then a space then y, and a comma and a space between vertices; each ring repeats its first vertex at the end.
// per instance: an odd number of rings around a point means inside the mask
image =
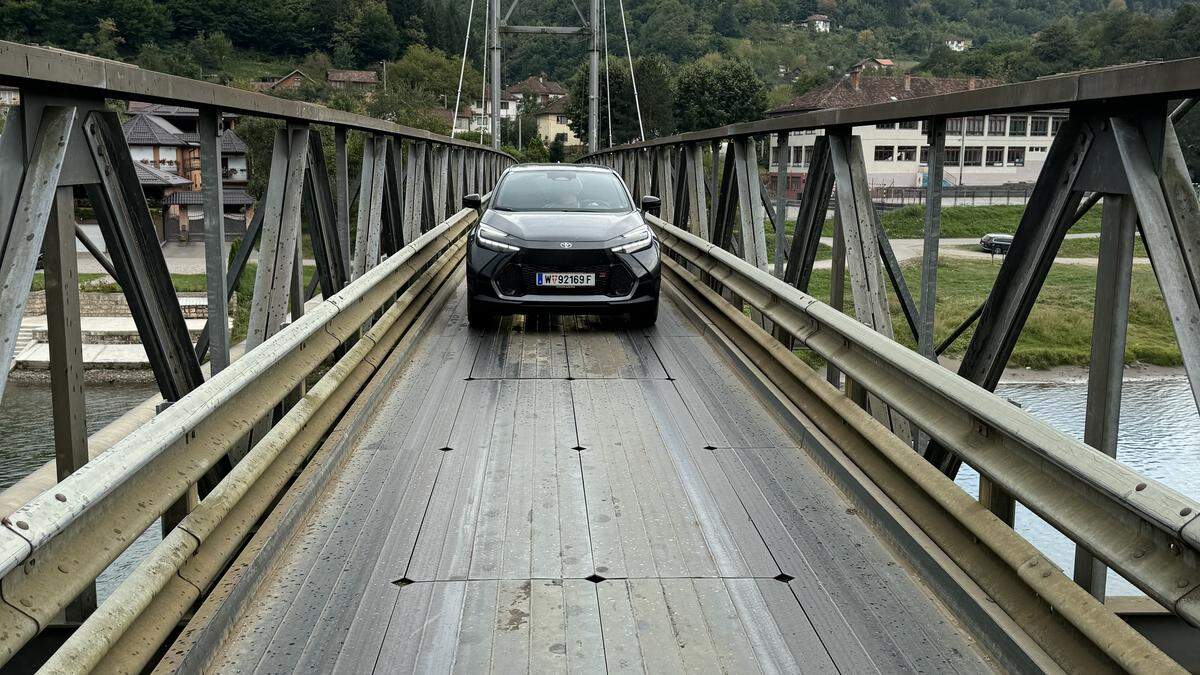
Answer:
POLYGON ((766 110, 767 86, 745 61, 697 61, 683 66, 676 76, 678 131, 756 120, 766 110))

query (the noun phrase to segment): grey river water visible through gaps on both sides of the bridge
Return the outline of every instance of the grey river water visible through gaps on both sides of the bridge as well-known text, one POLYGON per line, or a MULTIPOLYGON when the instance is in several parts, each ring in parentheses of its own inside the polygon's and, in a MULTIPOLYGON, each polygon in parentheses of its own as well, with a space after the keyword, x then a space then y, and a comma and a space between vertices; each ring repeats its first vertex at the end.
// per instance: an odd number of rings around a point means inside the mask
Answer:
MULTIPOLYGON (((89 431, 108 424, 155 392, 152 384, 86 387, 89 431)), ((1086 384, 1002 384, 997 394, 1020 404, 1057 429, 1082 438, 1086 384)), ((49 388, 10 383, 0 401, 0 489, 53 459, 49 388)), ((1124 383, 1117 459, 1148 478, 1200 498, 1200 414, 1184 378, 1124 383)), ((970 467, 964 466, 956 482, 967 492, 978 494, 979 476, 970 467)), ((1074 558, 1070 540, 1020 506, 1016 530, 1069 574, 1074 558)), ((137 565, 137 560, 158 540, 158 525, 155 524, 97 579, 100 597, 110 593, 137 565)), ((1139 592, 1128 581, 1110 573, 1109 593, 1139 592)))

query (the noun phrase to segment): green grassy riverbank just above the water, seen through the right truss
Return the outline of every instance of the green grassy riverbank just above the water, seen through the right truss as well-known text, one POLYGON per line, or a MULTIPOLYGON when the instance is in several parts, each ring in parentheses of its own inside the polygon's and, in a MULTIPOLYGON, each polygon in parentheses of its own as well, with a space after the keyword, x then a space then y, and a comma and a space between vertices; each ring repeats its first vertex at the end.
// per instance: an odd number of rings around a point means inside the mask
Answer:
MULTIPOLYGON (((934 331, 937 341, 941 341, 986 299, 996 273, 1000 270, 1000 263, 998 261, 992 263, 943 258, 937 269, 937 317, 934 331)), ((905 279, 913 292, 916 292, 919 274, 918 264, 905 265, 905 279)), ((828 270, 812 273, 812 285, 809 292, 822 300, 828 300, 828 270)), ((1033 306, 1009 365, 1034 369, 1060 365, 1086 366, 1091 356, 1094 298, 1094 269, 1080 265, 1055 265, 1033 306)), ((908 347, 916 346, 907 323, 900 313, 895 295, 890 291, 889 307, 896 340, 908 347)), ((853 313, 848 280, 846 313, 853 313)), ((967 330, 947 350, 946 356, 961 357, 972 334, 973 329, 967 330)), ((1126 363, 1168 366, 1182 363, 1171 321, 1158 289, 1158 282, 1147 265, 1139 265, 1133 271, 1126 363)))

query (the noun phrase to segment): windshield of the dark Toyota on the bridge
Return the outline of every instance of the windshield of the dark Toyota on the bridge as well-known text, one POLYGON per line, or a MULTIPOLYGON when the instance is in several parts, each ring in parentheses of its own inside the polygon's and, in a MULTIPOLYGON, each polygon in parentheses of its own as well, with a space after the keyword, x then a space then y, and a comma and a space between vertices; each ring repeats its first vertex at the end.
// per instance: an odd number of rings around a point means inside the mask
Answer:
POLYGON ((509 173, 496 189, 498 211, 584 211, 619 214, 632 210, 620 180, 606 171, 522 169, 509 173))

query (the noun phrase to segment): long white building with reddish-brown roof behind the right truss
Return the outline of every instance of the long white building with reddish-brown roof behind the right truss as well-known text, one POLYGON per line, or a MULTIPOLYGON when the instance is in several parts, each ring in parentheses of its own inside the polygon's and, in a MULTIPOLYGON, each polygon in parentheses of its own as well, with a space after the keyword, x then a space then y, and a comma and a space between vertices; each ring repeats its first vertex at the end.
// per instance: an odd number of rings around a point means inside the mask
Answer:
MULTIPOLYGON (((770 110, 772 115, 822 108, 848 108, 919 96, 949 94, 991 85, 978 79, 860 77, 842 79, 770 110)), ((1045 161, 1050 142, 1067 119, 1066 112, 1036 112, 947 120, 943 185, 998 186, 1032 184, 1045 161)), ((856 126, 863 142, 866 174, 872 187, 923 187, 928 184, 929 141, 924 121, 856 126)), ((812 147, 821 131, 788 136, 786 162, 788 198, 803 192, 812 147)), ((769 185, 779 175, 779 149, 770 137, 769 185)))

